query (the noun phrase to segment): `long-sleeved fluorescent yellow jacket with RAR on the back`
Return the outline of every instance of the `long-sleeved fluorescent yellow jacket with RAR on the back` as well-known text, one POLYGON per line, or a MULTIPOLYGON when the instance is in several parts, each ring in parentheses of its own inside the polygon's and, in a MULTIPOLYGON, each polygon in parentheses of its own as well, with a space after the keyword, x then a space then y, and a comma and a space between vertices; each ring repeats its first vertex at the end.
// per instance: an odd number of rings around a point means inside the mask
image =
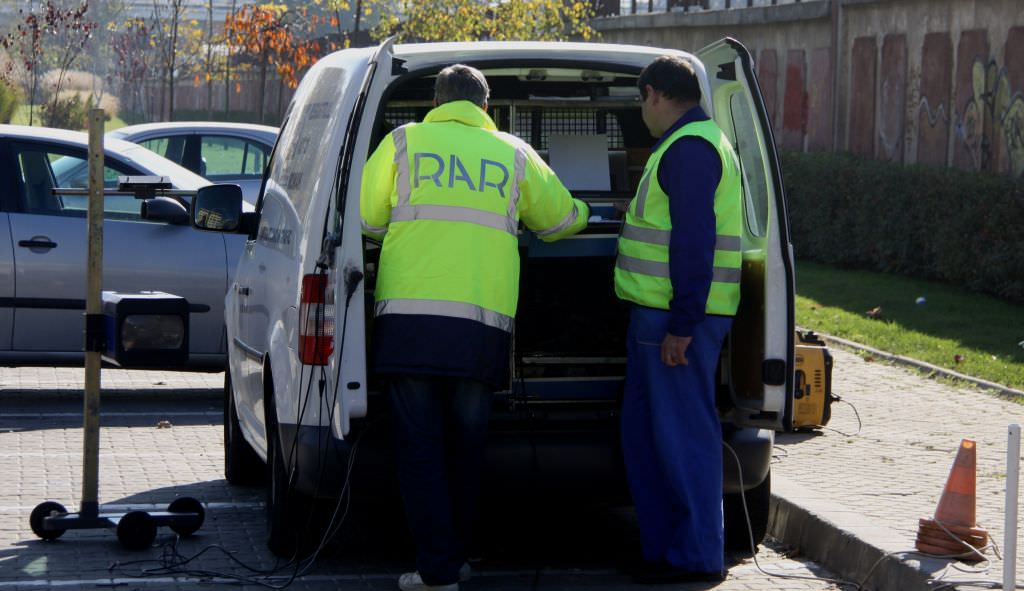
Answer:
POLYGON ((377 315, 468 319, 512 331, 518 224, 544 241, 586 227, 569 195, 521 139, 465 100, 388 134, 367 161, 364 234, 381 238, 377 315))

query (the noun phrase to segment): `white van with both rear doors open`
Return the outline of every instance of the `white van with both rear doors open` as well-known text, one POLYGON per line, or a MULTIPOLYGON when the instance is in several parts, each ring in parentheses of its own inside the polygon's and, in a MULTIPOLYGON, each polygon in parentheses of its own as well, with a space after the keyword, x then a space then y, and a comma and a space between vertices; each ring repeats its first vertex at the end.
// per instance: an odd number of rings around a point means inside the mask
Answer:
POLYGON ((360 176, 388 131, 422 120, 434 76, 455 62, 483 72, 498 127, 529 141, 592 213, 586 230, 557 243, 520 234, 513 371, 495 393, 487 481, 509 492, 558 479, 587 499, 625 491, 617 413, 627 309, 611 271, 620 212, 654 142, 636 79, 666 53, 693 64, 701 105, 742 169, 742 301, 722 353, 719 409, 742 468, 740 479, 724 454, 727 540, 746 545, 744 493, 760 542, 773 430, 793 388, 794 270, 775 143, 750 53, 732 39, 692 54, 597 43, 385 42, 333 53, 303 78, 255 213, 243 214, 238 192, 223 185, 196 198, 198 227, 249 238, 226 297, 225 472, 230 482, 269 473, 272 550, 292 555, 310 537, 300 532, 319 523, 304 518, 309 501, 344 492, 353 442, 387 414, 367 372, 379 245, 360 234, 360 176), (227 215, 210 215, 224 208, 227 215), (222 219, 240 221, 210 221, 222 219))

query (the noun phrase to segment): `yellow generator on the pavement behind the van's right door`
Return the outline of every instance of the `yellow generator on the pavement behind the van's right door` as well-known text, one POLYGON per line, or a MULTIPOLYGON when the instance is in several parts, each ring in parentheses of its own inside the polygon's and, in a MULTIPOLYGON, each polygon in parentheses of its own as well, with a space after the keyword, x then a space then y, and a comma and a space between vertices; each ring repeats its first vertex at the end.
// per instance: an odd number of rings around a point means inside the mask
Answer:
POLYGON ((787 431, 828 424, 831 418, 831 354, 811 331, 797 331, 796 385, 786 400, 783 424, 787 431))

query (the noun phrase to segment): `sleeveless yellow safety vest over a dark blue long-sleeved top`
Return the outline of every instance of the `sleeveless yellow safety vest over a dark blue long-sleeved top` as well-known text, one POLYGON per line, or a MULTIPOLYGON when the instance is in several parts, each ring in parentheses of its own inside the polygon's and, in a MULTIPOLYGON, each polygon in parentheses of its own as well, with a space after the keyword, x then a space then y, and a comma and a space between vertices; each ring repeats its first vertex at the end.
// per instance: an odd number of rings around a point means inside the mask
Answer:
POLYGON ((673 142, 692 135, 702 137, 722 160, 722 178, 715 191, 715 262, 705 311, 734 315, 739 306, 742 268, 742 185, 732 144, 712 121, 695 121, 677 129, 650 155, 637 195, 630 202, 618 238, 615 294, 640 305, 669 309, 672 281, 669 276, 669 239, 672 218, 669 196, 657 180, 662 157, 673 142))

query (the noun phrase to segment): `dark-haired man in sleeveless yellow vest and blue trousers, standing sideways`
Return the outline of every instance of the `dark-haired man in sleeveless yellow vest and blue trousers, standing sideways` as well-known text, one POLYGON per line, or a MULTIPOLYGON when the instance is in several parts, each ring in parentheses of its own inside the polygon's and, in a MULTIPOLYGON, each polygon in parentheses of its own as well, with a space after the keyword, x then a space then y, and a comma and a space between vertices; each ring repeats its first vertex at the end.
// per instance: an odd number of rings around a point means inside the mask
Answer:
POLYGON ((700 109, 693 67, 662 56, 638 80, 658 140, 626 214, 615 293, 632 302, 623 453, 640 522, 640 582, 724 577, 716 367, 739 303, 741 186, 700 109))

